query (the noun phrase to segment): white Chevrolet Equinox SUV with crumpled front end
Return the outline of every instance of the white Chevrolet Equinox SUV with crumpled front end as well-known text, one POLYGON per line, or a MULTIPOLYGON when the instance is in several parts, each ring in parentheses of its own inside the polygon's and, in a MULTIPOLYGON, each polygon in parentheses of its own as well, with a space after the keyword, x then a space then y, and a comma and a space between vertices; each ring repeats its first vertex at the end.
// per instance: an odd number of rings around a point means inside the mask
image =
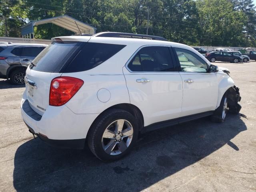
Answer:
POLYGON ((52 38, 26 70, 21 114, 53 146, 84 148, 116 160, 139 132, 238 113, 228 71, 190 46, 114 32, 52 38))

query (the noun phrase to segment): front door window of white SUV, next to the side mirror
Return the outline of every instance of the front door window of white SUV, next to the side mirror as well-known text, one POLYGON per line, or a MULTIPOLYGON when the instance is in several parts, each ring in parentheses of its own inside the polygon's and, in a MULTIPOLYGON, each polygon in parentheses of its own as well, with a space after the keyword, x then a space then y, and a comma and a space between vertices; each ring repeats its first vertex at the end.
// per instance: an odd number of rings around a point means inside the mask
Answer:
POLYGON ((192 51, 174 48, 183 72, 207 72, 207 63, 192 51))

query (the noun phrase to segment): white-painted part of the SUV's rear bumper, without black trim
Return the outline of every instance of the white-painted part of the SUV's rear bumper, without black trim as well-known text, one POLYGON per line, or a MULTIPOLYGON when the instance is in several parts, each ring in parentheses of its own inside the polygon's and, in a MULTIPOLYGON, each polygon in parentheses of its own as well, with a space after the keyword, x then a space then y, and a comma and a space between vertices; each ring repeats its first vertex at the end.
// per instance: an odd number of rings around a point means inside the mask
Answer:
POLYGON ((68 140, 83 139, 98 114, 74 114, 65 105, 48 106, 40 121, 28 116, 22 109, 23 102, 28 99, 24 92, 21 101, 21 115, 23 120, 36 133, 46 135, 49 139, 68 140))

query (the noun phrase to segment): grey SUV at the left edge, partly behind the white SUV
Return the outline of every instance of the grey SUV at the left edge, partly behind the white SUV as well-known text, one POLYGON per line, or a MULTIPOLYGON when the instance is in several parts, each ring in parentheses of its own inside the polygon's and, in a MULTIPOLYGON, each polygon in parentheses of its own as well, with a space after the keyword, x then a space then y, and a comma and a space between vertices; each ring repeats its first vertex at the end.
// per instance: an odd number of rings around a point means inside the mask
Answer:
POLYGON ((46 48, 45 44, 0 44, 0 78, 10 79, 12 84, 24 84, 26 68, 46 48))

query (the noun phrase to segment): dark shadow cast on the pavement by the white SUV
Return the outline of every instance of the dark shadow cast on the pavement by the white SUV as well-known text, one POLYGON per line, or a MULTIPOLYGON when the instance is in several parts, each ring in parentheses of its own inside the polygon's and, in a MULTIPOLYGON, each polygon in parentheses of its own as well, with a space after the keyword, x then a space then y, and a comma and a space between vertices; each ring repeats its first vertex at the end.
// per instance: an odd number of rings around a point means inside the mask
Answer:
MULTIPOLYGON (((201 118, 149 132, 116 162, 102 162, 90 150, 52 148, 37 139, 22 144, 14 157, 14 187, 19 191, 138 192, 190 166, 245 131, 243 117, 228 114, 217 124, 201 118)), ((186 178, 184 178, 186 180, 186 178)), ((170 183, 166 183, 166 187, 170 183)))

